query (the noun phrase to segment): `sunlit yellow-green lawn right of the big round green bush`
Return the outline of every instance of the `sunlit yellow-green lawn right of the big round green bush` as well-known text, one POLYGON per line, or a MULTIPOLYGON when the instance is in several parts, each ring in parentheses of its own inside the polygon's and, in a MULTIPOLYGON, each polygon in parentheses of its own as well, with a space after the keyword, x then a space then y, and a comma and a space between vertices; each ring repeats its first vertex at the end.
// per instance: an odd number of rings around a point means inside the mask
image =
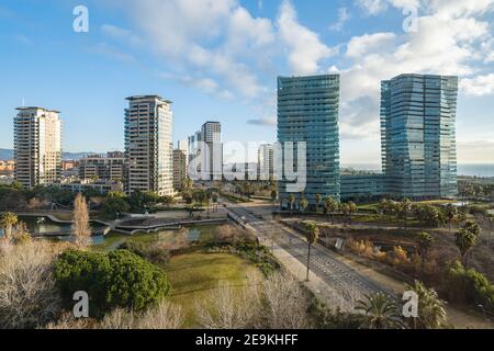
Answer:
POLYGON ((186 328, 195 326, 194 304, 218 284, 243 286, 248 273, 262 276, 249 261, 234 254, 197 251, 173 257, 162 267, 171 283, 171 301, 182 306, 186 328))

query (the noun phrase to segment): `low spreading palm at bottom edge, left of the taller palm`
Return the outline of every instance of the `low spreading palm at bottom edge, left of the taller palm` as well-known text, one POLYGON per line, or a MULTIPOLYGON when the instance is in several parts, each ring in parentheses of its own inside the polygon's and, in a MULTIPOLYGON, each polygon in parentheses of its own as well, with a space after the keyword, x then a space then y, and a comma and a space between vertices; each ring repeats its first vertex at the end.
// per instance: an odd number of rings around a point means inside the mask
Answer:
POLYGON ((364 301, 357 302, 356 309, 369 318, 369 329, 403 328, 396 304, 384 293, 364 295, 364 301))

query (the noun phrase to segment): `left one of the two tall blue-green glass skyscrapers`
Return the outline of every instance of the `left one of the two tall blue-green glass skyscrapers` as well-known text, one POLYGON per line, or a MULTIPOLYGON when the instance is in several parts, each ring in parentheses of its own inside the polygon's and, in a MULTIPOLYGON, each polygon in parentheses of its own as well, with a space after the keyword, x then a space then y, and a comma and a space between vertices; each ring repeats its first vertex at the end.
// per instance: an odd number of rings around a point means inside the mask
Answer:
MULTIPOLYGON (((278 140, 282 146, 294 143, 295 166, 296 143, 306 143, 307 174, 303 193, 311 205, 315 205, 316 194, 339 199, 338 114, 338 75, 278 78, 278 140)), ((279 180, 284 205, 290 196, 288 183, 284 177, 279 180)))

